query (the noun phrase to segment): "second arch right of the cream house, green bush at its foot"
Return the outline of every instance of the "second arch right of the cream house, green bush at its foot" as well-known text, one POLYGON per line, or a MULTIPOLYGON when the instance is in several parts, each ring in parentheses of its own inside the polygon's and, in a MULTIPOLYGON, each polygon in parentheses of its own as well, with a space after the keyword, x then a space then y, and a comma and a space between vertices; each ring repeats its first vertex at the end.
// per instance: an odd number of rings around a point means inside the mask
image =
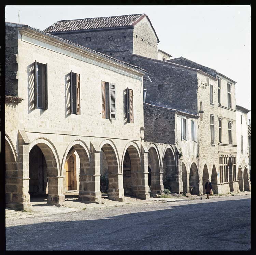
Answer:
POLYGON ((162 157, 163 187, 171 192, 177 191, 178 173, 175 162, 175 154, 171 146, 168 146, 162 157))

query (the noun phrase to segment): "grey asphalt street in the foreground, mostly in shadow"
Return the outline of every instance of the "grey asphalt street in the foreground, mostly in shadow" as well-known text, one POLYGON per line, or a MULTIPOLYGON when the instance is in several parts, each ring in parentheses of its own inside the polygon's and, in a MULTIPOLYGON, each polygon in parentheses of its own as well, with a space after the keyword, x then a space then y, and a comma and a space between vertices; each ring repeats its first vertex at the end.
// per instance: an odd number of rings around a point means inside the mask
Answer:
POLYGON ((237 196, 6 220, 6 250, 250 250, 237 196))

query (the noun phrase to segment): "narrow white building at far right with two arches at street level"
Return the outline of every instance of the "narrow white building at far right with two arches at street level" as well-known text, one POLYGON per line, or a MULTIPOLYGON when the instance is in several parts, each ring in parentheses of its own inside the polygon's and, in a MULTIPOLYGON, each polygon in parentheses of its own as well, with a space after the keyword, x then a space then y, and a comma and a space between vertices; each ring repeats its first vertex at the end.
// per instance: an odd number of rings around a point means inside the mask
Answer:
POLYGON ((251 190, 251 183, 249 180, 249 136, 248 136, 248 122, 247 114, 250 110, 236 105, 236 119, 237 119, 237 179, 239 190, 251 190))

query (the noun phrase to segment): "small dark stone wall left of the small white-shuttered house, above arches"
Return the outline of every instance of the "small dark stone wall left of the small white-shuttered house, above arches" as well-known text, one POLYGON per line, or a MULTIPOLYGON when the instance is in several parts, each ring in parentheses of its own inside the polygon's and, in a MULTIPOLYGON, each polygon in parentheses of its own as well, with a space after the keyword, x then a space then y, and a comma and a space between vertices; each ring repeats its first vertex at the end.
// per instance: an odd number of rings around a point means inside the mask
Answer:
POLYGON ((146 142, 175 143, 175 111, 144 103, 146 142))

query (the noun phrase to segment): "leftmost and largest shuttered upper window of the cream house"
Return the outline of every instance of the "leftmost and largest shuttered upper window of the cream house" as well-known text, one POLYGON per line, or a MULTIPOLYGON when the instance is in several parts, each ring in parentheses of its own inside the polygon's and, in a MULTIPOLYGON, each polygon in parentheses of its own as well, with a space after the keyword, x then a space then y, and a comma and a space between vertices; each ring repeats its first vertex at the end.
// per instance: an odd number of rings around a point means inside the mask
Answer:
POLYGON ((48 109, 47 64, 34 63, 34 107, 48 109))

